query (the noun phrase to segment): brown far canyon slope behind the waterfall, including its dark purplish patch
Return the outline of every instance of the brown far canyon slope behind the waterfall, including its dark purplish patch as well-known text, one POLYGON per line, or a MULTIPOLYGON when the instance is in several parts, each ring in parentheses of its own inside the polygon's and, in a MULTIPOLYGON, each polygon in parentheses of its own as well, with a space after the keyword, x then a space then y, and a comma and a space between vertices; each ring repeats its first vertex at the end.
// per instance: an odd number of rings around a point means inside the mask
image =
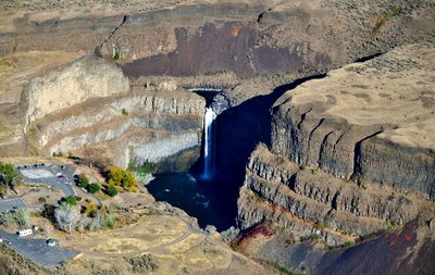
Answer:
POLYGON ((1 4, 8 18, 0 32, 1 55, 117 52, 124 72, 135 77, 222 71, 250 77, 325 70, 431 40, 434 30, 434 7, 427 0, 1 4), (382 14, 388 18, 374 28, 382 14))

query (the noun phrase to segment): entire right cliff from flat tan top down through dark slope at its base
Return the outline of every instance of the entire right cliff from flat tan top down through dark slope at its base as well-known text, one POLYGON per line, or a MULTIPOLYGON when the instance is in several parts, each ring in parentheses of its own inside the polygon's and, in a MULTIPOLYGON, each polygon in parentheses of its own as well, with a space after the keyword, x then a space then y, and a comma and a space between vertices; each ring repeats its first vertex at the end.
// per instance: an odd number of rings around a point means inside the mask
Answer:
POLYGON ((237 248, 309 274, 348 274, 366 251, 364 271, 419 267, 435 233, 434 60, 410 45, 284 93, 246 168, 237 248))

